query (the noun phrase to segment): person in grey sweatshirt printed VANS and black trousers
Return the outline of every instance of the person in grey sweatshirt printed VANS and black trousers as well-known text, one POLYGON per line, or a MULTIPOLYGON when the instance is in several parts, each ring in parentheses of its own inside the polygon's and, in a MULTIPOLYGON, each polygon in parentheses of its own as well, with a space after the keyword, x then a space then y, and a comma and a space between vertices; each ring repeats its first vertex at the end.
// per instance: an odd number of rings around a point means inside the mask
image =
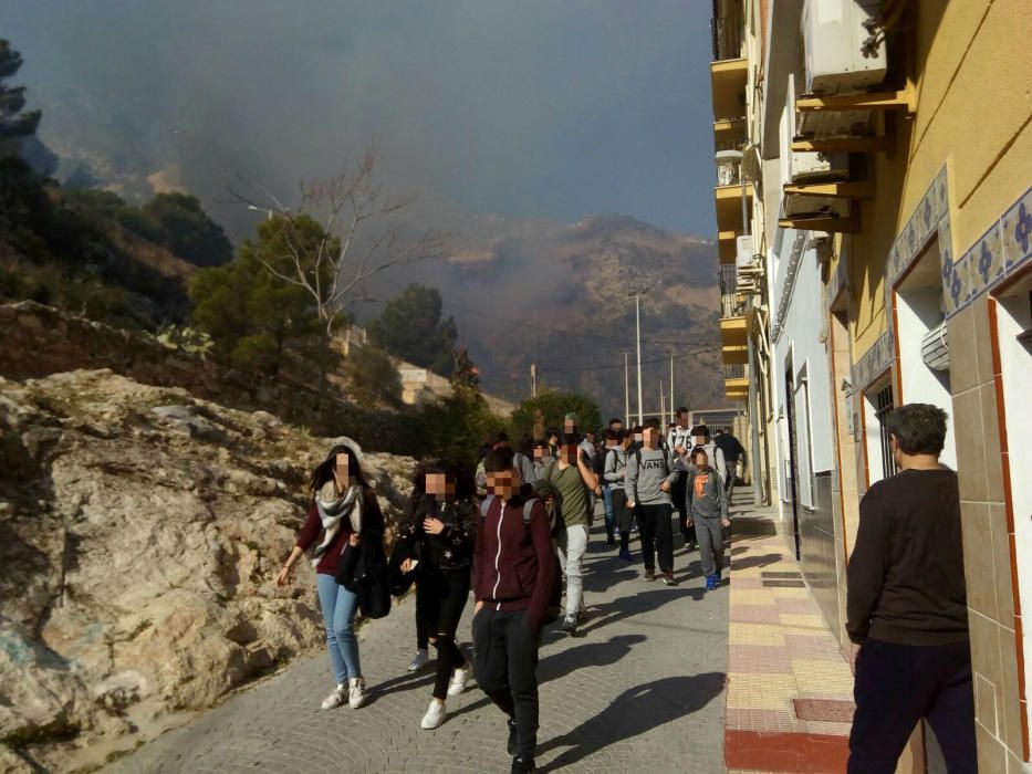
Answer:
POLYGON ((627 474, 624 492, 627 505, 637 509, 642 526, 642 558, 645 564, 645 579, 656 578, 656 556, 659 557, 659 572, 663 582, 673 586, 674 580, 674 534, 670 516, 674 504, 670 501, 670 487, 677 480, 673 461, 666 450, 659 446, 659 428, 648 425, 642 433, 644 447, 627 456, 627 474))

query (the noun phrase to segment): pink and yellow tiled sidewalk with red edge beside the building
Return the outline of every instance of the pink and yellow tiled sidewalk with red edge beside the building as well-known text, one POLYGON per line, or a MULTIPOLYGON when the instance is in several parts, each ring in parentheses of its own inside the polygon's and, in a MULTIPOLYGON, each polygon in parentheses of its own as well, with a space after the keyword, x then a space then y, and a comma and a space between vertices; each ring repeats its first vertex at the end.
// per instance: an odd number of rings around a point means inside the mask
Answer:
POLYGON ((848 663, 802 582, 776 512, 746 504, 732 523, 728 767, 845 771, 848 663))

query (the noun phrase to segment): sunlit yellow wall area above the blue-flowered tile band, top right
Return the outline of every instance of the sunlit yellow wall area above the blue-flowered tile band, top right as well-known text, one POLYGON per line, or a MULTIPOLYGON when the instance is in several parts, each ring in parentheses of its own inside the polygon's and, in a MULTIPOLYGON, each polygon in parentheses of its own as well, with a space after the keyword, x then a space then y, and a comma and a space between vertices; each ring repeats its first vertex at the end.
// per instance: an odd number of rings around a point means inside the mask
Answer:
POLYGON ((918 109, 897 228, 947 163, 955 259, 1032 181, 1030 31, 1028 0, 918 6, 918 109))

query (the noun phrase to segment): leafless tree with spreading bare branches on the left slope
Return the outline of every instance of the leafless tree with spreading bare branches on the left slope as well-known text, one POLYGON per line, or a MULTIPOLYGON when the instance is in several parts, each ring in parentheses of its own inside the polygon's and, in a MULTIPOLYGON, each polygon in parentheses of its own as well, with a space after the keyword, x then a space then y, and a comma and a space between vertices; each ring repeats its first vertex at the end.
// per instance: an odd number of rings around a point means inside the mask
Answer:
MULTIPOLYGON (((341 315, 357 301, 368 300, 369 278, 394 266, 447 255, 450 237, 429 231, 415 239, 403 236, 400 216, 414 196, 386 194, 378 181, 379 146, 371 144, 354 169, 327 180, 302 181, 295 207, 259 184, 241 178, 260 196, 230 188, 233 199, 251 209, 282 218, 286 226, 286 254, 275 263, 259 259, 275 278, 303 287, 323 323, 324 354, 341 315), (311 239, 312 220, 322 228, 311 239)), ((321 358, 325 360, 325 358, 321 358)), ((320 396, 325 394, 325 363, 320 369, 320 396)))

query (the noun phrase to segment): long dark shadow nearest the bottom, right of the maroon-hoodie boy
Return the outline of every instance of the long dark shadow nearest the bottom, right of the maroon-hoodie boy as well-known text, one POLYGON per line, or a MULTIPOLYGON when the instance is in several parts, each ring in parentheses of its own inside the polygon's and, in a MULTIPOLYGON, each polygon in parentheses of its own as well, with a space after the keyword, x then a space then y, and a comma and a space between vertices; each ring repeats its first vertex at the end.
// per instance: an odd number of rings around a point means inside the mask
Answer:
POLYGON ((540 771, 559 771, 611 744, 639 736, 653 729, 706 707, 723 691, 722 672, 669 677, 630 688, 605 710, 570 733, 545 741, 539 755, 569 747, 540 771))

